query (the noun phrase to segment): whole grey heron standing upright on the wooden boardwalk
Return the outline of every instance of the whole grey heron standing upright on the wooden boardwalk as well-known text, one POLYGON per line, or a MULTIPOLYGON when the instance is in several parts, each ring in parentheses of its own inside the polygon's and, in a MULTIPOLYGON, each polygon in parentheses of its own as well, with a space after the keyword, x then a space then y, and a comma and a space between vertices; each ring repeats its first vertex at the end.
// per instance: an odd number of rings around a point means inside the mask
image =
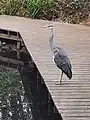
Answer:
POLYGON ((50 28, 51 30, 51 36, 49 38, 49 44, 50 44, 50 48, 51 51, 53 53, 53 57, 54 57, 54 61, 57 65, 57 67, 59 69, 62 70, 61 73, 61 77, 60 77, 60 84, 62 82, 62 77, 63 77, 63 73, 66 74, 66 76, 71 79, 72 78, 72 66, 71 66, 71 62, 68 58, 68 55, 66 54, 66 52, 64 51, 63 48, 61 47, 57 47, 54 44, 54 31, 53 31, 53 25, 46 25, 46 26, 42 26, 43 28, 50 28))

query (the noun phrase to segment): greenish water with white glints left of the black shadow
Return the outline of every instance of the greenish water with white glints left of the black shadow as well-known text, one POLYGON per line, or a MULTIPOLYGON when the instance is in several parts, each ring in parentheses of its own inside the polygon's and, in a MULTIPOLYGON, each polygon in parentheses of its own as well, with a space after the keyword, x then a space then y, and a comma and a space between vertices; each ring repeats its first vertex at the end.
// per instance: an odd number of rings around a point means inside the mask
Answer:
POLYGON ((0 66, 0 119, 33 119, 19 72, 5 66, 0 66))

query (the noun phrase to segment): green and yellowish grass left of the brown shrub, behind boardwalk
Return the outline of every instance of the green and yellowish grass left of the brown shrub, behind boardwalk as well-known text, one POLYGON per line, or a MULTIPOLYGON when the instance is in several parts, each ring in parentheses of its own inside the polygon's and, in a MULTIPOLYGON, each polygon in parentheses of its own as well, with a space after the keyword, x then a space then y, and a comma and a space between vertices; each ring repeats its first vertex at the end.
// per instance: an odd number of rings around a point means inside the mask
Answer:
POLYGON ((54 0, 1 0, 0 15, 51 20, 56 13, 54 0))

